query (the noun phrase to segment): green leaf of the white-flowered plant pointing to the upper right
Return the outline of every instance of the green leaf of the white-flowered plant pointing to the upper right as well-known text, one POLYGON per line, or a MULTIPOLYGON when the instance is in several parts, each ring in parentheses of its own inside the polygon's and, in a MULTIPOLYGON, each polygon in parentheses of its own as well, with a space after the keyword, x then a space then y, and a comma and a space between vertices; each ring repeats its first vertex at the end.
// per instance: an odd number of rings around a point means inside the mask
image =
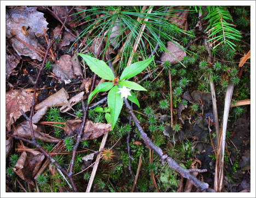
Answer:
POLYGON ((153 61, 153 59, 154 59, 154 56, 152 56, 150 59, 135 62, 132 65, 129 65, 124 69, 119 81, 124 80, 126 78, 134 77, 138 73, 141 73, 150 64, 150 62, 153 61))

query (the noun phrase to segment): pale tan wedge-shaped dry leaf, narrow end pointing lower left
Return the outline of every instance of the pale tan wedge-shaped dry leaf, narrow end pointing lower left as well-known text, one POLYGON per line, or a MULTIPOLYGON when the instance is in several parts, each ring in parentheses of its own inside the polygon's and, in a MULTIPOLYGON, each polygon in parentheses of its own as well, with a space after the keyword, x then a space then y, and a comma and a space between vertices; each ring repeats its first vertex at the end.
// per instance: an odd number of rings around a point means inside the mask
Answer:
POLYGON ((69 106, 69 103, 67 101, 68 98, 69 98, 69 96, 68 96, 67 92, 65 91, 64 88, 62 88, 55 94, 48 97, 43 102, 37 104, 34 109, 39 110, 39 109, 42 109, 43 107, 53 107, 53 106, 58 107, 58 106, 63 106, 65 104, 67 106, 69 106))

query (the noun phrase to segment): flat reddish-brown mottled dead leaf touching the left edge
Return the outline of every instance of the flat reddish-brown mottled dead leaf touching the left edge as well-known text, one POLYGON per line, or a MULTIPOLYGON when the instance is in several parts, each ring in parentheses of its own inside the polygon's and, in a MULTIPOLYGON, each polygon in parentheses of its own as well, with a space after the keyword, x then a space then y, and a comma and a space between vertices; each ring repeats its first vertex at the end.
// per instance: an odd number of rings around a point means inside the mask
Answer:
POLYGON ((6 127, 10 131, 11 124, 22 115, 20 109, 24 112, 30 110, 33 97, 22 90, 13 90, 6 93, 6 127))

